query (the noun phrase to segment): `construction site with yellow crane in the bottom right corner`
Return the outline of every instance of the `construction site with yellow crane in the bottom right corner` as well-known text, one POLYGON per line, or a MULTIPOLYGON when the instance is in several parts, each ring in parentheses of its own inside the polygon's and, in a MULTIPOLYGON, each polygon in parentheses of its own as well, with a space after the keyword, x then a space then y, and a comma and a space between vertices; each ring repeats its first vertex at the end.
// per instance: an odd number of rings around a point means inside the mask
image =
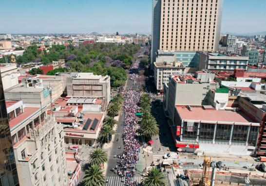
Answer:
POLYGON ((159 164, 170 186, 266 186, 266 157, 184 154, 159 164))

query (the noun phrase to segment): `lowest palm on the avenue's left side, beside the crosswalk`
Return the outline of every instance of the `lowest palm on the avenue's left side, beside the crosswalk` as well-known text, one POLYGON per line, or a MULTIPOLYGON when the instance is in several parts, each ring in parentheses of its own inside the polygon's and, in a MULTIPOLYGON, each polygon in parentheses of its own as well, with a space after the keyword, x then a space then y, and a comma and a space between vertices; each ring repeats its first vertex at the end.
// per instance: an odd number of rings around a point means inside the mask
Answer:
POLYGON ((103 169, 97 165, 92 165, 85 171, 83 182, 85 186, 104 186, 105 178, 103 169))

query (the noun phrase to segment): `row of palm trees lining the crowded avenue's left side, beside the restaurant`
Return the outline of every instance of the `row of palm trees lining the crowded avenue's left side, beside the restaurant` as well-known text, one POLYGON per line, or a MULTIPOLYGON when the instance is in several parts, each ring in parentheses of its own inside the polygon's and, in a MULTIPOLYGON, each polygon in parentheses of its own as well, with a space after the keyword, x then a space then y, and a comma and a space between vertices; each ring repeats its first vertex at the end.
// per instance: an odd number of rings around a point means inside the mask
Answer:
POLYGON ((112 138, 112 135, 115 133, 113 128, 117 124, 117 121, 114 119, 114 116, 119 114, 119 111, 122 107, 122 102, 124 98, 121 94, 117 94, 113 101, 107 108, 108 116, 104 119, 103 127, 99 132, 97 141, 103 145, 104 143, 109 143, 112 138))

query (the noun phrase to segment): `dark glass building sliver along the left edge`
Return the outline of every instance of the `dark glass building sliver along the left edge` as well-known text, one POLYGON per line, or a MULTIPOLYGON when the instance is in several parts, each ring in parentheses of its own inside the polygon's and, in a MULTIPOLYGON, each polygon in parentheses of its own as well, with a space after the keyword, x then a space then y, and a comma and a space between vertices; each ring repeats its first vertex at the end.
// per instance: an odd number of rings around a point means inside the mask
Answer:
POLYGON ((1 78, 0 114, 0 186, 19 186, 1 78))

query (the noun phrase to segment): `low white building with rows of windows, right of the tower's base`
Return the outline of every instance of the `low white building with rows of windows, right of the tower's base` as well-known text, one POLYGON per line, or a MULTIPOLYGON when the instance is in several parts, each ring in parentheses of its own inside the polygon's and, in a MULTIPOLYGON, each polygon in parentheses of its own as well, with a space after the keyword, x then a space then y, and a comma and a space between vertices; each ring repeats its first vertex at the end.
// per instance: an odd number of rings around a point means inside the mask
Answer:
POLYGON ((234 71, 235 69, 247 70, 247 56, 228 56, 220 53, 201 53, 199 70, 234 71))

